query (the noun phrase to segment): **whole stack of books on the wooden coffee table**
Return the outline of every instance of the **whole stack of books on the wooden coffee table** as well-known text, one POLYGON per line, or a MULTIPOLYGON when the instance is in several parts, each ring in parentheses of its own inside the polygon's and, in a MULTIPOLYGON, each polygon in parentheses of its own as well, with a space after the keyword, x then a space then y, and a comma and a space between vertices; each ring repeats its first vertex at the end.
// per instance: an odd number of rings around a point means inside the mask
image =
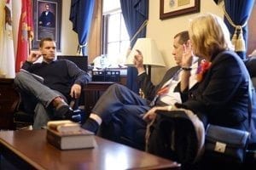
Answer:
POLYGON ((84 130, 77 122, 50 121, 47 123, 46 139, 60 150, 94 148, 94 133, 84 130))

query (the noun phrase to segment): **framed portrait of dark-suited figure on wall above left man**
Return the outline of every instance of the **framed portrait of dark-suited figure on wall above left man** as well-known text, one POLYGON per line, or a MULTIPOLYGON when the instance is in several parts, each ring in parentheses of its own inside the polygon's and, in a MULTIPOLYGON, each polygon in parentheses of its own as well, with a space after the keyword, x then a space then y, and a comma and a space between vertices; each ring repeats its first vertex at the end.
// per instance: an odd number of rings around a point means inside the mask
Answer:
POLYGON ((33 0, 32 49, 39 47, 42 38, 51 37, 57 51, 61 51, 61 8, 61 0, 33 0))

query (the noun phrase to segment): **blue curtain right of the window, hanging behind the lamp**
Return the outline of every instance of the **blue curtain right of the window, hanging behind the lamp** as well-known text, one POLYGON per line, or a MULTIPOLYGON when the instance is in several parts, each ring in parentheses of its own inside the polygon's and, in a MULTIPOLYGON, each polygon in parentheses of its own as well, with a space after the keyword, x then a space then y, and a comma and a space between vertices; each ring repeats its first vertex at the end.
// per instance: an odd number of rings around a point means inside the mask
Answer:
MULTIPOLYGON (((143 23, 148 20, 148 0, 120 0, 120 5, 130 39, 136 35, 131 41, 132 48, 137 38, 146 37, 146 27, 144 27, 142 31, 137 31, 143 26, 143 23)), ((138 93, 136 78, 137 69, 128 67, 126 86, 135 93, 138 93)))

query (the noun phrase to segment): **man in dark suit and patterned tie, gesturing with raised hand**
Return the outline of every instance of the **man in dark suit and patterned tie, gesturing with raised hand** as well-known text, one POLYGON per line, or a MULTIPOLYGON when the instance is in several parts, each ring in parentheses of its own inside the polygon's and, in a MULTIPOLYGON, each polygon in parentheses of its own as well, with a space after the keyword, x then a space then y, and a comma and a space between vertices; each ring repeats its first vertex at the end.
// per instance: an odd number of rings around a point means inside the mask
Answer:
MULTIPOLYGON (((128 136, 133 141, 137 140, 135 131, 137 129, 145 129, 147 125, 142 119, 143 113, 147 112, 154 105, 173 105, 174 103, 181 102, 180 90, 184 91, 187 88, 191 88, 196 83, 195 77, 191 77, 189 87, 183 87, 182 84, 181 86, 179 84, 183 71, 186 71, 181 66, 183 46, 186 45, 188 40, 188 31, 182 31, 174 37, 172 54, 174 55, 177 66, 167 71, 157 86, 154 86, 144 70, 143 54, 137 51, 138 54, 134 60, 134 65, 138 71, 137 82, 146 99, 141 98, 125 86, 113 84, 102 94, 102 97, 92 109, 89 119, 82 127, 96 133, 102 122, 108 125, 110 122, 113 122, 113 116, 119 116, 121 126, 125 127, 122 128, 125 130, 122 133, 125 133, 125 136, 128 136), (121 114, 124 111, 129 114, 121 114)), ((196 58, 193 63, 191 73, 195 75, 198 65, 196 58)), ((111 139, 111 137, 109 138, 111 139)))

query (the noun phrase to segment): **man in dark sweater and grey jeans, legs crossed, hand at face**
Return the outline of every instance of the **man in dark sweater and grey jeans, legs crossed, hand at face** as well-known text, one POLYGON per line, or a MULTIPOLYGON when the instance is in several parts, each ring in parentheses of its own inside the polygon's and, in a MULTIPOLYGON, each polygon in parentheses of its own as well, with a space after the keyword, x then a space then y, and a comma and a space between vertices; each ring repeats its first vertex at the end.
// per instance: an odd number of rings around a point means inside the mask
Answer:
POLYGON ((82 86, 90 75, 73 62, 55 59, 55 42, 44 38, 39 51, 32 51, 15 77, 15 85, 27 108, 34 111, 33 128, 44 127, 49 120, 71 119, 73 110, 67 105, 79 99, 82 86), (34 63, 43 55, 42 63, 34 63))

